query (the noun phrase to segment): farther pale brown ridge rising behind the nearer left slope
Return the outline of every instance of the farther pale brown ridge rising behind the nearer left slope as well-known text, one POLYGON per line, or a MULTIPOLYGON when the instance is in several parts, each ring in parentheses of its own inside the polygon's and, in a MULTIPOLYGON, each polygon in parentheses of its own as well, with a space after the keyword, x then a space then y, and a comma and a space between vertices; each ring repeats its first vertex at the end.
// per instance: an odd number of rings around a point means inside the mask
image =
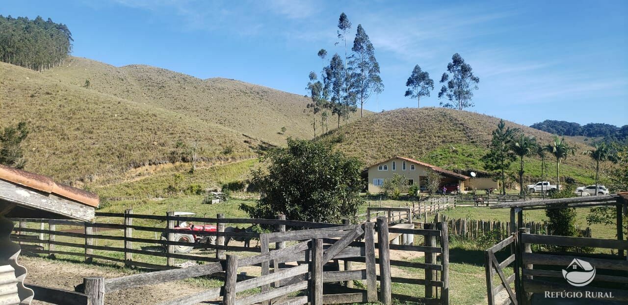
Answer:
POLYGON ((114 67, 78 57, 43 75, 77 87, 89 80, 95 92, 219 124, 274 145, 283 145, 288 136, 313 136, 303 112, 310 99, 239 80, 202 80, 146 65, 114 67))

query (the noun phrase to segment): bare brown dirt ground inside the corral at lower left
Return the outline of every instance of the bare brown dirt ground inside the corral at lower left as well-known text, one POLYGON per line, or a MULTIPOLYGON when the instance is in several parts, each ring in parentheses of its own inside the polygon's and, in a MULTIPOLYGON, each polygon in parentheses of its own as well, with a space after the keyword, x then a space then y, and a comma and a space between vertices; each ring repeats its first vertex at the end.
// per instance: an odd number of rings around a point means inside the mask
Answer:
MULTIPOLYGON (((19 258, 20 264, 28 270, 26 283, 38 284, 46 287, 54 287, 73 291, 74 286, 83 282, 83 277, 103 276, 108 279, 114 277, 127 276, 130 272, 117 270, 111 267, 100 267, 97 265, 75 264, 62 262, 59 260, 40 259, 36 257, 19 258)), ((138 287, 107 293, 105 304, 127 305, 127 304, 158 304, 163 301, 176 299, 187 294, 206 290, 188 284, 186 282, 168 282, 151 286, 138 287)), ((46 302, 33 301, 33 305, 48 304, 46 302)))

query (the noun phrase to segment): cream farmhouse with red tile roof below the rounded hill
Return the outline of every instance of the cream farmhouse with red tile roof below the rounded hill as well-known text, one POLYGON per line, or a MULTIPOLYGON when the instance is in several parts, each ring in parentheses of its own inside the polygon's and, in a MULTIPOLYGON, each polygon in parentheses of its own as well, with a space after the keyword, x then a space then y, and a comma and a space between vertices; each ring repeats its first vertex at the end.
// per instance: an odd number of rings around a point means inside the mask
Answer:
POLYGON ((384 179, 393 178, 393 174, 403 174, 408 178, 410 185, 418 184, 424 186, 427 184, 427 170, 432 169, 442 176, 441 185, 455 183, 460 185, 460 190, 465 189, 465 181, 469 177, 463 174, 457 174, 447 169, 439 168, 431 164, 423 163, 410 158, 394 157, 369 166, 369 192, 381 192, 381 186, 384 179))

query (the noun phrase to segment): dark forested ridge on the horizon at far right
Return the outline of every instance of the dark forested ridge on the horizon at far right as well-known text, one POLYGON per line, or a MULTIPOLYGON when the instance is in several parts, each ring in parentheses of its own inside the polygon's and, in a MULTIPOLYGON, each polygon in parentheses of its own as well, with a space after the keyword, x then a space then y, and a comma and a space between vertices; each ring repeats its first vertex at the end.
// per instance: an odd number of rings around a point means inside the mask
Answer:
POLYGON ((604 123, 580 125, 565 120, 544 120, 530 127, 539 131, 558 134, 559 136, 604 137, 605 142, 624 142, 628 140, 628 125, 617 127, 604 123))

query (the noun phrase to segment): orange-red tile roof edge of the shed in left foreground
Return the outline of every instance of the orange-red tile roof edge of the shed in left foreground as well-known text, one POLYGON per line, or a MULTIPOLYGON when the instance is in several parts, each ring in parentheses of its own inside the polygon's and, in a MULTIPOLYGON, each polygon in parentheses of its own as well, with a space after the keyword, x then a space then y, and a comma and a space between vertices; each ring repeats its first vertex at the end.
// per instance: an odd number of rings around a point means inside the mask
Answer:
POLYGON ((74 200, 84 205, 97 207, 100 198, 94 193, 89 191, 73 188, 72 186, 63 185, 61 183, 55 183, 52 179, 41 176, 40 174, 30 173, 21 169, 10 168, 8 166, 0 165, 0 179, 23 185, 28 188, 33 188, 38 191, 43 191, 48 194, 55 194, 74 200))

